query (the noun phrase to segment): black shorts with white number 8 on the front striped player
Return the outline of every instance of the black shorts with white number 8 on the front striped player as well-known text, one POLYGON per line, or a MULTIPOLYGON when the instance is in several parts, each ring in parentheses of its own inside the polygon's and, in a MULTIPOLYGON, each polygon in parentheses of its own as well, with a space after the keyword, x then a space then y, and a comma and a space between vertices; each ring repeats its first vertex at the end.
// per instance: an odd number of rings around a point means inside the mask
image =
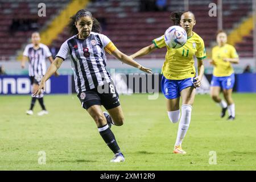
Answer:
POLYGON ((94 88, 80 92, 77 97, 81 101, 82 107, 86 110, 93 105, 103 105, 106 110, 120 105, 117 90, 112 82, 101 86, 100 89, 94 88))

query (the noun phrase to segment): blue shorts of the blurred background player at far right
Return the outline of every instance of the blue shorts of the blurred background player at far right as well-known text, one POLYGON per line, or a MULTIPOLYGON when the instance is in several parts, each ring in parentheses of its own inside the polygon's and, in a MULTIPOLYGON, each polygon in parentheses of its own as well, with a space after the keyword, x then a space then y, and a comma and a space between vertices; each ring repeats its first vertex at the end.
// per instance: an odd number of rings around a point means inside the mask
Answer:
POLYGON ((230 76, 212 76, 212 81, 210 82, 210 86, 220 86, 222 89, 229 90, 234 86, 234 73, 230 76))

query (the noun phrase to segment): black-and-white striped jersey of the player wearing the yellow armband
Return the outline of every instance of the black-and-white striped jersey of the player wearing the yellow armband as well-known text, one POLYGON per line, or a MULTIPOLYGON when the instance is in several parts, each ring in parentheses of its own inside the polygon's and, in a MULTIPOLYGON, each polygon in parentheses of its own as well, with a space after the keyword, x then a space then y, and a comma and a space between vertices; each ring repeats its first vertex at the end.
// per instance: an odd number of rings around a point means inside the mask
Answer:
POLYGON ((56 57, 65 60, 71 56, 71 66, 74 72, 76 92, 97 88, 111 81, 106 69, 106 52, 112 53, 108 47, 114 44, 102 34, 91 32, 86 39, 77 35, 66 40, 60 47, 56 57))

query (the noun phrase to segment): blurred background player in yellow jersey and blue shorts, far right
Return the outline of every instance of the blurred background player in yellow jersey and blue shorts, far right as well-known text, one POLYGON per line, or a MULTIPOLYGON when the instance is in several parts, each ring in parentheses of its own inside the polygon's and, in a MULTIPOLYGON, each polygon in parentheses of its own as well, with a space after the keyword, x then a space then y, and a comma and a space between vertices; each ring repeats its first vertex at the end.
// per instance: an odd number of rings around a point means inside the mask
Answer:
POLYGON ((237 64, 239 58, 236 49, 227 44, 226 41, 226 33, 224 31, 218 31, 218 46, 213 47, 212 61, 210 62, 214 67, 212 81, 210 82, 210 96, 213 101, 222 107, 221 118, 225 116, 226 110, 228 109, 228 120, 232 121, 235 118, 234 101, 232 100, 234 86, 232 63, 237 64), (221 88, 226 102, 219 97, 221 88))

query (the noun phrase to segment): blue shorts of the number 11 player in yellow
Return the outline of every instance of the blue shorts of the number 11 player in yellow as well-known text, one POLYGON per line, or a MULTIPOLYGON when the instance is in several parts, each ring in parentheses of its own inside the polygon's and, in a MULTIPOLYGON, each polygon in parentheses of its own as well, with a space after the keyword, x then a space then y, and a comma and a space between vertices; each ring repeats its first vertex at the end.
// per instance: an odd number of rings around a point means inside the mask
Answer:
POLYGON ((188 88, 189 86, 193 86, 193 77, 184 80, 168 80, 166 77, 162 77, 162 93, 168 99, 180 97, 181 90, 188 88))

